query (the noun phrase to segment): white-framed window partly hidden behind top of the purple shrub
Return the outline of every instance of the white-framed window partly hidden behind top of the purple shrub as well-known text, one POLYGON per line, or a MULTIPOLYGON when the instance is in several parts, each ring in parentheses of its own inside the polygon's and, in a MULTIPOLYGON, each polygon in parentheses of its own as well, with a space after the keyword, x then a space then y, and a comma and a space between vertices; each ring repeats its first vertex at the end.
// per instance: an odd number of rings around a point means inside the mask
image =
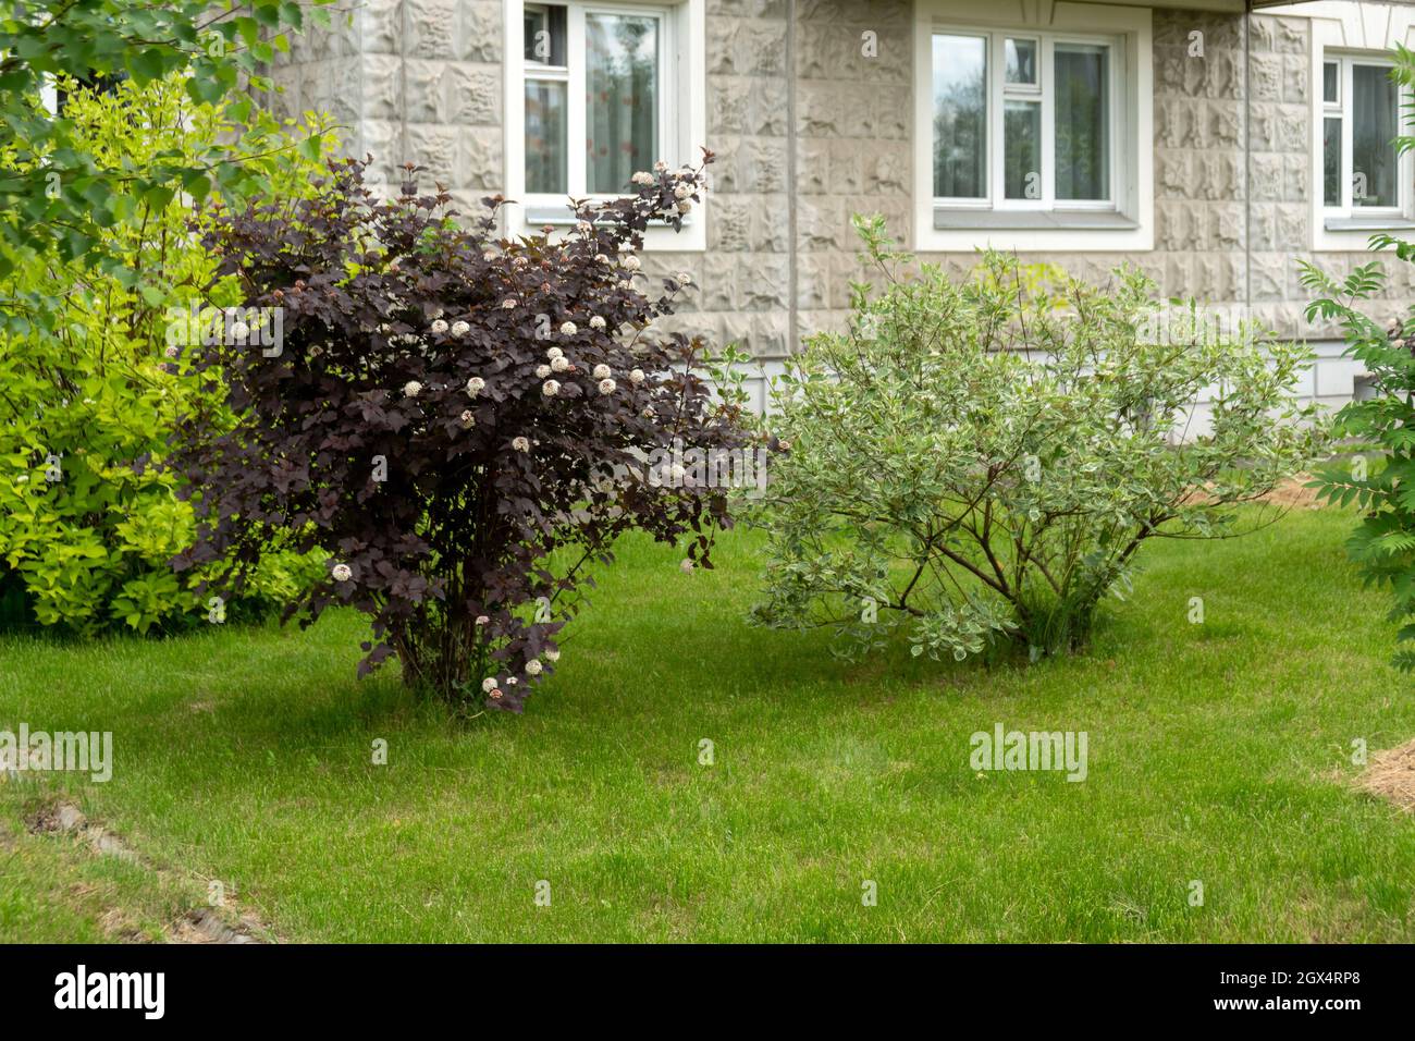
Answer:
MULTIPOLYGON (((524 129, 507 136, 507 194, 524 224, 566 224, 570 197, 608 198, 659 159, 698 159, 703 4, 507 0, 508 50, 521 55, 508 62, 508 125, 524 129)), ((702 248, 693 239, 675 245, 702 248)))

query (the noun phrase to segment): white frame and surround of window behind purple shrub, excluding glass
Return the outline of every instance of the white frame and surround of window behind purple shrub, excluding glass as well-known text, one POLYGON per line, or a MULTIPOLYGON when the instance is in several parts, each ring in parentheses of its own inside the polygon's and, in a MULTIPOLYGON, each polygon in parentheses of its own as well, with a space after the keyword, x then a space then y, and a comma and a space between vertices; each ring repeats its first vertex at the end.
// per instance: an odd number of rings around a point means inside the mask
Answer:
MULTIPOLYGON (((550 67, 545 72, 531 72, 525 61, 525 8, 553 6, 504 0, 505 14, 505 195, 508 232, 524 235, 545 225, 569 227, 574 217, 569 195, 576 198, 614 198, 610 194, 590 194, 586 187, 587 156, 586 106, 576 103, 586 95, 584 17, 586 14, 637 14, 659 20, 659 91, 658 144, 662 159, 671 167, 685 163, 696 166, 702 157, 699 146, 706 144, 706 0, 562 0, 566 11, 566 67, 550 67), (567 194, 529 194, 525 187, 525 84, 526 79, 563 79, 566 89, 566 161, 567 194)), ((709 167, 710 173, 710 167, 709 167)), ((702 251, 708 246, 706 200, 674 232, 666 225, 649 227, 644 235, 647 249, 675 252, 702 251)))

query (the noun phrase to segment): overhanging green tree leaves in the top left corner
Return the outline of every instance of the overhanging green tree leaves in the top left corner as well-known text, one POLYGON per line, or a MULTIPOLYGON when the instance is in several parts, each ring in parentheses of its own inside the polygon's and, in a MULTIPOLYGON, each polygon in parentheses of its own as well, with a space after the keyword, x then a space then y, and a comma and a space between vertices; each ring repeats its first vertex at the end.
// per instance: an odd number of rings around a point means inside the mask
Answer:
MULTIPOLYGON (((55 0, 0 4, 0 279, 35 256, 86 259, 125 279, 123 256, 106 249, 103 229, 136 225, 143 207, 161 208, 174 186, 195 198, 263 193, 259 166, 228 161, 222 142, 191 142, 157 152, 143 167, 105 164, 85 147, 83 127, 65 109, 57 116, 44 91, 65 78, 126 76, 139 88, 177 78, 192 103, 212 105, 238 95, 242 82, 267 89, 263 62, 289 50, 284 28, 299 30, 308 14, 328 24, 330 0, 55 0)), ((249 98, 228 109, 236 123, 255 125, 249 98)), ((62 289, 31 286, 0 300, 0 317, 24 326, 52 323, 62 289)))

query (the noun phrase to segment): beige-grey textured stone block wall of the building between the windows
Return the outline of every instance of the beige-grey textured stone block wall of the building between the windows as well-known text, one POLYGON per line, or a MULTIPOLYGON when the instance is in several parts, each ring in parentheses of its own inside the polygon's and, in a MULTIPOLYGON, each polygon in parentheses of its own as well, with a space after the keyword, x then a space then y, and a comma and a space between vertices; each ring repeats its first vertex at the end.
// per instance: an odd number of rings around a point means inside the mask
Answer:
MULTIPOLYGON (((705 143, 719 156, 708 249, 652 254, 648 265, 698 280, 696 310, 679 327, 737 341, 771 372, 798 337, 843 322, 859 275, 853 212, 882 212, 914 242, 914 6, 706 3, 705 143)), ((359 0, 333 31, 294 44, 276 69, 284 93, 275 105, 286 115, 331 110, 348 127, 348 152, 375 156, 381 184, 416 161, 474 208, 505 184, 502 10, 499 0, 359 0)), ((1090 278, 1128 261, 1166 296, 1247 303, 1283 336, 1330 340, 1333 330, 1303 324, 1296 262, 1344 273, 1368 255, 1309 249, 1309 31, 1290 14, 1156 8, 1155 248, 1027 259, 1090 278), (1196 30, 1203 58, 1189 54, 1196 30)), ((927 259, 958 272, 974 261, 927 259)), ((1392 314, 1415 289, 1411 265, 1394 268, 1392 314)), ((1348 397, 1353 365, 1324 353, 1307 392, 1348 397)))

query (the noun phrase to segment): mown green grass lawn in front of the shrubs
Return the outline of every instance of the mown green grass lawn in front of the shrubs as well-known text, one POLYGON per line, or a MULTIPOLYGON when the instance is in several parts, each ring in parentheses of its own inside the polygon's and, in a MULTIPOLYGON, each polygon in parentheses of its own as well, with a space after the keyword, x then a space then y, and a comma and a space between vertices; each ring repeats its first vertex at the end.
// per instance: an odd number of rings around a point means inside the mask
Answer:
POLYGON ((116 753, 106 785, 0 783, 0 939, 149 935, 216 878, 287 940, 1412 940, 1415 819, 1353 790, 1350 745, 1415 736, 1415 700, 1350 527, 1157 542, 1088 654, 993 670, 749 627, 751 535, 691 575, 630 542, 526 714, 466 724, 357 681, 350 613, 0 639, 0 729, 116 753), (1087 780, 978 776, 996 722, 1087 731, 1087 780), (27 834, 61 790, 149 867, 27 834))

